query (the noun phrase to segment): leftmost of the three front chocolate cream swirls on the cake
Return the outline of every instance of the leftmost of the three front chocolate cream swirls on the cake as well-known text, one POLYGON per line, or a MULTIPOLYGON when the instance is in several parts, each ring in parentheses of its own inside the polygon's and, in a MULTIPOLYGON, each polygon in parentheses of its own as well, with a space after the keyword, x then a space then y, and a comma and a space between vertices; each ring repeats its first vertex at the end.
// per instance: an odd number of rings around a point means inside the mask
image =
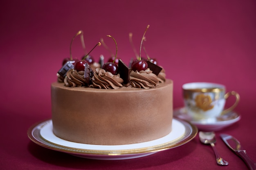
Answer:
POLYGON ((81 87, 90 84, 90 78, 85 78, 85 72, 77 72, 74 69, 68 70, 64 79, 65 86, 67 87, 81 87))

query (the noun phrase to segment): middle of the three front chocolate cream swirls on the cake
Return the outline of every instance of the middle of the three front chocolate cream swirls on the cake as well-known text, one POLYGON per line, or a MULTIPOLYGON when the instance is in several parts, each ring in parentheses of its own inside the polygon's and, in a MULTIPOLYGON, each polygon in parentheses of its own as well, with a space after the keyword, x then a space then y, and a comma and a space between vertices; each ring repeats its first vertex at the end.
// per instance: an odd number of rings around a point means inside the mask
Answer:
POLYGON ((119 74, 113 75, 101 68, 96 68, 92 78, 92 84, 89 87, 98 89, 117 89, 123 86, 123 82, 124 81, 120 78, 119 74))

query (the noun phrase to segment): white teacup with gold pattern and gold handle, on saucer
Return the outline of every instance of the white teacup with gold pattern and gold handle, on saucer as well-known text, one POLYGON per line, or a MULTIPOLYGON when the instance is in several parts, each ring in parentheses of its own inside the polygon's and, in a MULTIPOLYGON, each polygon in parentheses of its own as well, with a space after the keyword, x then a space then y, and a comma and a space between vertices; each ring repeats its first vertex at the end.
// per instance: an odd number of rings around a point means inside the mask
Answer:
POLYGON ((215 121, 218 116, 232 111, 238 104, 237 92, 225 92, 225 85, 206 82, 186 83, 182 85, 184 105, 187 114, 194 121, 215 121), (235 103, 224 110, 226 99, 235 96, 235 103))

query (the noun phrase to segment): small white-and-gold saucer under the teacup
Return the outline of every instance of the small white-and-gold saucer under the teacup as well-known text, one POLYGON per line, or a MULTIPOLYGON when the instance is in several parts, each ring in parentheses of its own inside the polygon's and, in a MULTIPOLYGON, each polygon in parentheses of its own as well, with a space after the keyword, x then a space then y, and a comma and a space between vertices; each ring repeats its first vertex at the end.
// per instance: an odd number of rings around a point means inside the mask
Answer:
POLYGON ((230 111, 223 116, 217 117, 213 122, 195 121, 187 114, 185 107, 174 109, 173 116, 191 122, 201 131, 219 131, 241 119, 238 113, 230 111))

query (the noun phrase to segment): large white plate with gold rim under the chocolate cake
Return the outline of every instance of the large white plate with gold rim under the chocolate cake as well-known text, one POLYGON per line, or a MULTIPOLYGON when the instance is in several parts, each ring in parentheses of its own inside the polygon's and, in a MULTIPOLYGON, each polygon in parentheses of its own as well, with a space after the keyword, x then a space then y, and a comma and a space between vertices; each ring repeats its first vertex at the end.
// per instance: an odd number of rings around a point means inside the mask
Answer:
POLYGON ((92 145, 66 141, 54 135, 52 120, 31 126, 27 135, 36 144, 77 157, 101 160, 119 160, 144 157, 162 150, 175 148, 191 141, 198 133, 195 125, 173 119, 172 131, 159 139, 126 145, 92 145))

